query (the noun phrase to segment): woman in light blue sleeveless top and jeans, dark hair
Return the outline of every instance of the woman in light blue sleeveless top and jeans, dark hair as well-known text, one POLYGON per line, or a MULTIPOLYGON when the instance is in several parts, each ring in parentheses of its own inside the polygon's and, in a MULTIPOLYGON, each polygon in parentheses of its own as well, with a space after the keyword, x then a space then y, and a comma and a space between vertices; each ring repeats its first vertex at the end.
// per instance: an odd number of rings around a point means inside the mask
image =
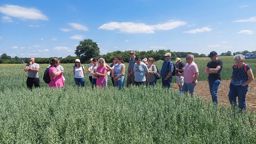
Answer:
POLYGON ((126 69, 126 66, 123 64, 123 58, 121 56, 116 57, 116 65, 113 71, 113 78, 115 82, 115 87, 119 87, 119 90, 124 85, 124 71, 126 69))

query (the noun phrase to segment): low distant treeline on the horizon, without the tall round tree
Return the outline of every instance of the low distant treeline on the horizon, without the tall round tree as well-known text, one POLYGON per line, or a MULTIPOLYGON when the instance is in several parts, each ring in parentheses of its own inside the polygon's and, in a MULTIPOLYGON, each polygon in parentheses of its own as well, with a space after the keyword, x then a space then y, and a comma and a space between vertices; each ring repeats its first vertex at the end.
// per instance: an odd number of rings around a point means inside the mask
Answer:
MULTIPOLYGON (((164 60, 163 55, 166 52, 171 52, 171 50, 158 50, 158 51, 149 50, 147 52, 145 52, 145 51, 141 51, 141 52, 135 51, 135 55, 139 56, 141 58, 142 57, 147 57, 147 58, 152 57, 156 61, 158 61, 158 60, 164 60)), ((235 54, 247 54, 247 53, 255 53, 255 51, 249 52, 249 51, 245 50, 243 52, 234 52, 233 55, 235 55, 235 54)), ((180 57, 180 58, 186 57, 187 54, 193 54, 194 57, 207 57, 205 54, 198 54, 198 53, 193 53, 193 52, 171 52, 171 54, 172 54, 171 59, 173 61, 177 57, 180 57)), ((232 52, 230 52, 230 51, 225 52, 225 53, 223 52, 219 55, 220 56, 231 56, 232 52)), ((122 56, 124 62, 129 62, 130 51, 122 52, 122 51, 118 50, 118 51, 109 52, 107 54, 100 55, 99 57, 96 57, 96 58, 103 57, 107 63, 111 63, 113 57, 117 57, 117 56, 122 56)), ((49 64, 50 60, 52 58, 53 57, 50 57, 50 58, 35 57, 35 61, 38 64, 49 64)), ((82 57, 79 57, 79 56, 73 57, 73 56, 69 55, 65 58, 62 58, 62 57, 58 57, 58 58, 59 58, 60 62, 64 63, 64 64, 74 63, 75 59, 81 59, 81 63, 90 63, 90 59, 83 59, 82 57)), ((28 57, 17 57, 17 56, 12 58, 12 57, 8 56, 5 53, 0 56, 0 64, 23 64, 23 63, 29 63, 29 58, 28 57)))

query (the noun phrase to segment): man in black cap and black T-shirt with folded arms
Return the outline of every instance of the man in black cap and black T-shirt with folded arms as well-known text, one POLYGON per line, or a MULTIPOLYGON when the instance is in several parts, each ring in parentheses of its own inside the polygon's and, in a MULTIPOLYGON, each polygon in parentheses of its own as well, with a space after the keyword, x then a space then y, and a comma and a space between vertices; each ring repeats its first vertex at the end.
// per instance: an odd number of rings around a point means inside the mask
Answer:
POLYGON ((217 58, 218 54, 215 51, 210 52, 208 62, 204 73, 208 74, 208 83, 211 93, 211 99, 214 103, 218 104, 218 88, 221 81, 221 71, 223 67, 223 61, 217 58))

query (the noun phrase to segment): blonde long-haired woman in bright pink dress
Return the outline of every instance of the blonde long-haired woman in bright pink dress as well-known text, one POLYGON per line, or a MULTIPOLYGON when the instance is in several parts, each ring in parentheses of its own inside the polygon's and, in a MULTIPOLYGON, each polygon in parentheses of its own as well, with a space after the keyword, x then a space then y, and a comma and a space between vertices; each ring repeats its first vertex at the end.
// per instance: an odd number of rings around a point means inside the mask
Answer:
POLYGON ((97 76, 96 86, 106 87, 106 77, 107 77, 107 66, 105 59, 102 57, 98 60, 97 72, 95 73, 97 76))

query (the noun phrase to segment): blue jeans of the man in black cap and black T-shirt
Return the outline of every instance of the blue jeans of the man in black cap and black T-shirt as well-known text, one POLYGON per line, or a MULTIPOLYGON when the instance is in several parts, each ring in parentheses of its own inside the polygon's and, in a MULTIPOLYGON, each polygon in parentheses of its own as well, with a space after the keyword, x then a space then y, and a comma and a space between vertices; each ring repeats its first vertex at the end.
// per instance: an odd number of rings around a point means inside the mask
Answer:
POLYGON ((217 78, 208 78, 209 89, 211 92, 211 99, 218 104, 218 88, 220 86, 220 80, 217 78))

